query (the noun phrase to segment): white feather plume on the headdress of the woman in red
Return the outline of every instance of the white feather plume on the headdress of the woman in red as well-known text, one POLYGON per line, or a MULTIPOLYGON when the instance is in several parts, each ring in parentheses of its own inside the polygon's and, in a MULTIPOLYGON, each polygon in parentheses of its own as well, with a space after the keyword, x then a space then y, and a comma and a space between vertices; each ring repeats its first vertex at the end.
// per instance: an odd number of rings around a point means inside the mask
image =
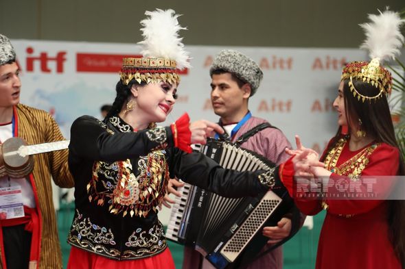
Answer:
POLYGON ((404 43, 400 27, 405 20, 400 14, 391 10, 380 12, 379 15, 369 14, 370 23, 360 24, 364 29, 367 39, 360 49, 367 49, 371 59, 379 57, 380 60, 395 58, 400 54, 400 48, 404 43))

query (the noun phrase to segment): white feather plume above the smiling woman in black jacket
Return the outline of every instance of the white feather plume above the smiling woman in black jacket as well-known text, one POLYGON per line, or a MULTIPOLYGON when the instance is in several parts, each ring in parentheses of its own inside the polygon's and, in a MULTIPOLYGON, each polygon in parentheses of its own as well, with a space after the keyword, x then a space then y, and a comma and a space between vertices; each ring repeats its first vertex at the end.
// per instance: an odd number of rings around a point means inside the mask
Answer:
POLYGON ((183 38, 178 37, 178 31, 187 29, 178 24, 174 10, 146 11, 149 18, 141 21, 143 41, 143 57, 161 57, 175 60, 178 69, 190 67, 189 53, 184 50, 183 38))

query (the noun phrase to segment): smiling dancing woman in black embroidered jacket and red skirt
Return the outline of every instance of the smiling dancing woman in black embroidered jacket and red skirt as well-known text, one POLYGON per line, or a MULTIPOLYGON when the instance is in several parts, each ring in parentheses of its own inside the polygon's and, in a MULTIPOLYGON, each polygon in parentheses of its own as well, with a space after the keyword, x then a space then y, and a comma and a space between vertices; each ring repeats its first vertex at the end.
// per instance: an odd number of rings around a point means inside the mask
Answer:
MULTIPOLYGON (((177 22, 173 13, 146 14, 177 22)), ((68 268, 174 268, 157 218, 170 177, 231 197, 255 196, 275 185, 270 172, 224 170, 191 153, 190 144, 204 143, 207 132, 221 131, 218 125, 189 125, 185 114, 170 127, 156 127, 174 105, 177 68, 187 66, 175 59, 124 58, 117 97, 104 121, 82 116, 73 123, 69 168, 76 214, 68 268)))

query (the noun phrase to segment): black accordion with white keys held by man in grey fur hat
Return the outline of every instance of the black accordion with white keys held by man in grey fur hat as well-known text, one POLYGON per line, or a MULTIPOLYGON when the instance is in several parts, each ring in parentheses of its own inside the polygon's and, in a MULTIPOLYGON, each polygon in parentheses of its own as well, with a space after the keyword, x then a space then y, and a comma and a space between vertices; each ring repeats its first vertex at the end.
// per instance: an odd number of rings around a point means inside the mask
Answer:
MULTIPOLYGON (((275 164, 232 142, 208 139, 196 151, 223 168, 269 170, 275 164)), ((185 183, 178 189, 166 238, 192 246, 218 269, 235 268, 253 261, 268 238, 262 228, 275 226, 294 203, 285 188, 256 197, 225 198, 185 183)))

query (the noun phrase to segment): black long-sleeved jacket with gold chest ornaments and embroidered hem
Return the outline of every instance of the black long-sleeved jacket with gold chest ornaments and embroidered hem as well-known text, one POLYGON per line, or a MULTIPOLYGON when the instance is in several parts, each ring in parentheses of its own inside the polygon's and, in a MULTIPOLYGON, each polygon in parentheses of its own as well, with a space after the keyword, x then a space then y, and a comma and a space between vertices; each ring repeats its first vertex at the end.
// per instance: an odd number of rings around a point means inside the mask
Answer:
POLYGON ((201 153, 174 148, 170 127, 134 132, 117 116, 104 122, 82 116, 73 123, 69 169, 76 198, 69 244, 117 260, 165 250, 157 207, 170 178, 228 197, 268 190, 259 181, 263 171, 224 170, 201 153))

